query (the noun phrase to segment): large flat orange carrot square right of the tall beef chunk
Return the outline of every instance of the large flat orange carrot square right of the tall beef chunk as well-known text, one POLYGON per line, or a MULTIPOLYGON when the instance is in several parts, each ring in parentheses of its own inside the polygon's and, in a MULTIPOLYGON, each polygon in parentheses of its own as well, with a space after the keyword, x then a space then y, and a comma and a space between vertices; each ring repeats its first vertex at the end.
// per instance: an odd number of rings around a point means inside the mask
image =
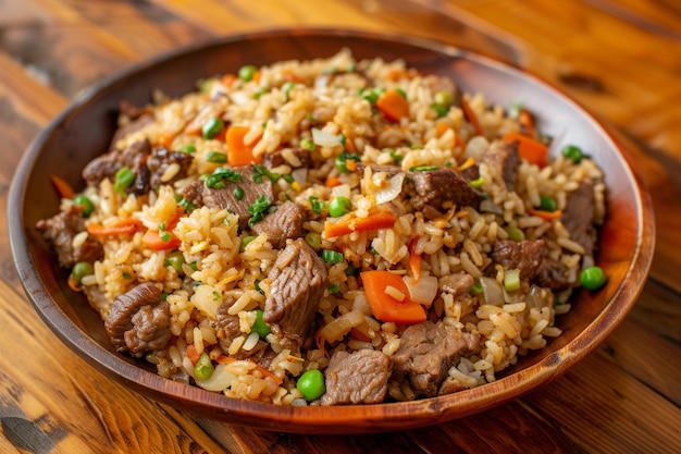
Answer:
POLYGON ((360 273, 367 299, 373 315, 381 321, 395 323, 414 324, 425 321, 426 314, 423 306, 412 302, 409 296, 407 284, 399 274, 389 271, 363 271, 360 273), (386 289, 393 287, 405 295, 403 300, 396 299, 386 293, 386 289))

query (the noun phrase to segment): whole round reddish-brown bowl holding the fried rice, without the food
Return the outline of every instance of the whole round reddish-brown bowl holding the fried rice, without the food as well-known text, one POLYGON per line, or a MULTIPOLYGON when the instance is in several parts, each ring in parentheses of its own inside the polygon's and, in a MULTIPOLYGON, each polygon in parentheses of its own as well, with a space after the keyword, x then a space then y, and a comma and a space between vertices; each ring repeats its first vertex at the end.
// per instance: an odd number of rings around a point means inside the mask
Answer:
POLYGON ((416 428, 485 410, 564 373, 592 352, 624 318, 646 278, 654 246, 652 205, 627 151, 584 109, 557 89, 517 69, 448 46, 340 30, 283 30, 219 39, 145 61, 91 89, 61 113, 24 156, 11 187, 9 210, 14 260, 36 310, 76 354, 112 380, 153 400, 231 424, 289 432, 373 432, 416 428), (227 398, 157 376, 145 363, 113 352, 103 323, 66 285, 50 249, 36 232, 57 213, 50 176, 83 187, 81 170, 107 149, 121 99, 141 105, 152 89, 178 96, 200 77, 234 72, 246 63, 329 57, 348 47, 357 58, 403 58, 425 73, 450 75, 463 89, 509 106, 522 99, 548 134, 582 146, 605 169, 608 218, 598 265, 608 275, 596 293, 575 295, 558 318, 564 334, 521 359, 497 381, 472 390, 407 403, 337 407, 282 407, 227 398))

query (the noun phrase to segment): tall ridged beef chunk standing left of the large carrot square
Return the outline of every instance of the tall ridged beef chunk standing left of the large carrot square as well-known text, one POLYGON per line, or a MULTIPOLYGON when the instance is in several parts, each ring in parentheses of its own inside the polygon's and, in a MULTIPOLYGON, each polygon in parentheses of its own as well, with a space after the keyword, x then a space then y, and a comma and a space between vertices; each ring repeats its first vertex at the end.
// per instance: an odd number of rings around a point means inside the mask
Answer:
POLYGON ((271 289, 262 319, 282 345, 297 351, 329 284, 326 267, 314 249, 298 238, 280 250, 268 280, 271 289))

